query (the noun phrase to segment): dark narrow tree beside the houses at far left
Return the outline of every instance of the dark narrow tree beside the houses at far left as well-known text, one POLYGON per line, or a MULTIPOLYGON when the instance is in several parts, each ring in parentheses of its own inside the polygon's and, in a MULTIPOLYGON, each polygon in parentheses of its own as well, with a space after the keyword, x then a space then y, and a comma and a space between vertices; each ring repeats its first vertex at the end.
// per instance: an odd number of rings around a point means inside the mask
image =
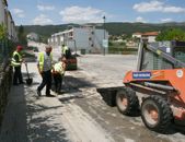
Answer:
POLYGON ((26 35, 24 33, 24 27, 22 25, 19 27, 18 38, 21 45, 24 45, 24 46, 27 45, 26 35))

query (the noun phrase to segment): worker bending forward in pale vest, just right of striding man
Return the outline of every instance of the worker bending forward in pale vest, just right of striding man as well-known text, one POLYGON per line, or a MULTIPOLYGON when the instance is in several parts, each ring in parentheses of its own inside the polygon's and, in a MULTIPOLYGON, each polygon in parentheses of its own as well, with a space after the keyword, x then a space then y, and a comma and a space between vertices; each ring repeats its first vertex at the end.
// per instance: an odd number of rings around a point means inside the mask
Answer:
POLYGON ((62 79, 63 79, 65 71, 66 71, 66 61, 67 61, 66 57, 62 56, 61 58, 59 58, 59 62, 54 64, 54 69, 53 69, 55 92, 58 94, 61 91, 62 79))

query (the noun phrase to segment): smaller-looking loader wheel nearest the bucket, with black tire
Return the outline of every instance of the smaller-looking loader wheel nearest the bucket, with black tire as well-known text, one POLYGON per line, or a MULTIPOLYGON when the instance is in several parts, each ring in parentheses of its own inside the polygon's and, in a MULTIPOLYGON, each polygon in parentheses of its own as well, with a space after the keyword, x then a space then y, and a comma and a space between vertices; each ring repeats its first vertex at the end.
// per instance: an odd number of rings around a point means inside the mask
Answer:
POLYGON ((119 90, 116 94, 116 105, 119 113, 132 116, 139 109, 139 99, 136 92, 130 87, 119 90), (127 106, 124 106, 123 98, 127 99, 127 106))

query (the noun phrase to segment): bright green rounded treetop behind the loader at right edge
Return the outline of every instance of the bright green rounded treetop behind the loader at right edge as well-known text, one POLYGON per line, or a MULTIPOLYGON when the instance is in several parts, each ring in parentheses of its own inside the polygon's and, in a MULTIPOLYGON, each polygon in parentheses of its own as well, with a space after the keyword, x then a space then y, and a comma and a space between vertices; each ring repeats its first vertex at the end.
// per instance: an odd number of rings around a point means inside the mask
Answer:
POLYGON ((185 42, 185 32, 180 28, 171 28, 158 35, 157 40, 181 40, 185 42))

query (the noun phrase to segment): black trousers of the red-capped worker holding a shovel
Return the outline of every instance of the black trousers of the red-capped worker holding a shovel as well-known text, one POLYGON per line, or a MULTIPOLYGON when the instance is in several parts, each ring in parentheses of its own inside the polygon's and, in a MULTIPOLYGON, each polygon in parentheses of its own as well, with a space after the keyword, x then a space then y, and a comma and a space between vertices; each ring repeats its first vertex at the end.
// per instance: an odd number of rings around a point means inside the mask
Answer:
POLYGON ((14 74, 13 74, 13 84, 23 83, 23 76, 21 73, 21 66, 14 67, 14 74))

